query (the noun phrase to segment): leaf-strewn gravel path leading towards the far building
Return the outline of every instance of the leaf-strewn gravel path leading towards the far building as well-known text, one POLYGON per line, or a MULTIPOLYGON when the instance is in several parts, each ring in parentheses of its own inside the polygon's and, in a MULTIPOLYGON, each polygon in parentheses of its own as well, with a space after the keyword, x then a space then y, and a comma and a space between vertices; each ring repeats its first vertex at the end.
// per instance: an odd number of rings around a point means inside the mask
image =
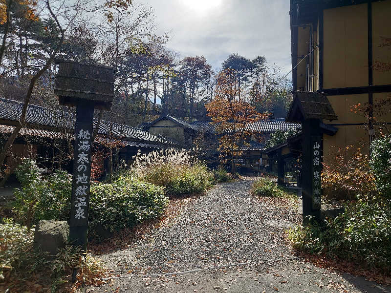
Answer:
POLYGON ((291 257, 282 233, 297 210, 249 195, 251 177, 219 184, 134 247, 101 258, 121 274, 188 271, 206 266, 291 257))

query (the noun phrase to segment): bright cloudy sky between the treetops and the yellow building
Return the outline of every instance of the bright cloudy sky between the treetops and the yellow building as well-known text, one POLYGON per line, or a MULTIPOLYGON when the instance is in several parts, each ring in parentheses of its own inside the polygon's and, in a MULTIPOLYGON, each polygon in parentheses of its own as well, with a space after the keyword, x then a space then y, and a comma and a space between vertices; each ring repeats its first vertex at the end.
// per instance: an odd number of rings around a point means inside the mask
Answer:
MULTIPOLYGON (((155 11, 156 33, 180 58, 203 55, 215 70, 232 53, 291 70, 288 0, 143 0, 155 11)), ((290 75, 288 77, 291 79, 290 75)))

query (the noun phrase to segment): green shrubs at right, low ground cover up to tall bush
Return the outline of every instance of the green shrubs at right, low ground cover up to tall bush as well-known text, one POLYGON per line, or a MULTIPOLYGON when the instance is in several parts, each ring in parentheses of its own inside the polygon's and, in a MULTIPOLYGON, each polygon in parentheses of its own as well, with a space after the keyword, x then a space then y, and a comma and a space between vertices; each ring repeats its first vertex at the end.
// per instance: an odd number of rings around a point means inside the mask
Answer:
MULTIPOLYGON (((297 226, 289 230, 288 238, 295 249, 352 261, 374 272, 390 274, 390 140, 390 135, 375 139, 371 146, 371 160, 365 162, 373 177, 373 188, 363 188, 360 192, 356 186, 352 187, 356 200, 350 201, 345 206, 345 212, 335 219, 321 223, 311 221, 307 227, 297 226)), ((354 157, 357 157, 357 152, 354 157)), ((352 174, 354 177, 358 172, 353 169, 352 174)), ((355 184, 350 175, 341 174, 346 178, 343 180, 346 186, 355 184)))

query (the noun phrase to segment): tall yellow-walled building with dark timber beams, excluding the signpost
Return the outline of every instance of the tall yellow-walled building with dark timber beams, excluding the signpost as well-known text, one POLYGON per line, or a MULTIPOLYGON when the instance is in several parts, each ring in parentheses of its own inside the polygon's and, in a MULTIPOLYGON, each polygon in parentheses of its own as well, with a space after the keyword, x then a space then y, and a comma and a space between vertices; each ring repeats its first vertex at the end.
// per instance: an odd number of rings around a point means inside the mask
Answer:
POLYGON ((323 137, 325 160, 333 146, 368 149, 391 123, 376 112, 391 97, 390 15, 391 0, 290 1, 293 90, 325 93, 338 116, 324 120, 338 128, 323 137))

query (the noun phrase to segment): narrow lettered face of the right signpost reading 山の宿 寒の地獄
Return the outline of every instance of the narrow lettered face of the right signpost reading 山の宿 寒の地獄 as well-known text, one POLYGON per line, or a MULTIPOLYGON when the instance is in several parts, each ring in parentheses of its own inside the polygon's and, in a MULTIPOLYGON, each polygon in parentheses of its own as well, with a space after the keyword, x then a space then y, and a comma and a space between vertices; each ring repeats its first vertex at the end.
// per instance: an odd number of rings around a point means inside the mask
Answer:
POLYGON ((321 195, 322 195, 322 184, 321 184, 321 136, 311 136, 311 198, 312 198, 312 209, 321 209, 321 195))

